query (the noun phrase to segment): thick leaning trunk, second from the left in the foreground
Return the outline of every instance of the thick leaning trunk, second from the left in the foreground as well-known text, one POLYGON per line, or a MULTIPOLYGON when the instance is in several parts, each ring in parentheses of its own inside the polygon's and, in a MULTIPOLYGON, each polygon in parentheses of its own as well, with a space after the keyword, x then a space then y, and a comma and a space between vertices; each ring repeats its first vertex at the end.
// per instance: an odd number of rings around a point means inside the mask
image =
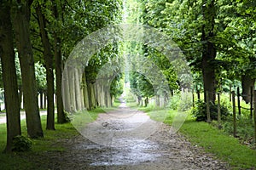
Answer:
POLYGON ((27 133, 31 138, 43 137, 44 133, 38 108, 35 66, 30 40, 30 5, 32 1, 13 1, 12 14, 16 46, 19 52, 27 133))

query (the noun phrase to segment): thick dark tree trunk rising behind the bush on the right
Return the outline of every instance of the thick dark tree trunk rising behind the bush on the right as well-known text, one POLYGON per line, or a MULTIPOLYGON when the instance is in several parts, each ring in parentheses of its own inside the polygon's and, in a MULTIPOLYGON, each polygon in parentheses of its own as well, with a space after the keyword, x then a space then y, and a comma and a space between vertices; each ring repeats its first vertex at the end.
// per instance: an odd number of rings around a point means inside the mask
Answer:
POLYGON ((214 65, 212 65, 212 61, 216 57, 216 48, 214 44, 211 42, 212 38, 214 37, 214 19, 215 19, 215 7, 214 7, 214 0, 212 0, 209 4, 203 2, 203 19, 205 23, 202 26, 202 35, 201 35, 201 42, 202 42, 202 75, 203 75, 203 82, 204 82, 204 96, 205 102, 207 101, 207 92, 209 94, 209 99, 212 103, 215 102, 215 71, 214 65))

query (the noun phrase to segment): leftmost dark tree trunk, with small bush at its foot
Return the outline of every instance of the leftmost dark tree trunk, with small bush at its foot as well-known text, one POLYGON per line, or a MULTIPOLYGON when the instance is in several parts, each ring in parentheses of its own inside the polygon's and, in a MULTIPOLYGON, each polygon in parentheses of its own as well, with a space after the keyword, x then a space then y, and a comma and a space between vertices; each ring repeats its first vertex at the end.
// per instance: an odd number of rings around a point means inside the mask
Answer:
POLYGON ((9 3, 0 5, 0 57, 2 63, 4 102, 7 118, 6 152, 11 151, 14 137, 21 133, 20 101, 9 5, 9 3))

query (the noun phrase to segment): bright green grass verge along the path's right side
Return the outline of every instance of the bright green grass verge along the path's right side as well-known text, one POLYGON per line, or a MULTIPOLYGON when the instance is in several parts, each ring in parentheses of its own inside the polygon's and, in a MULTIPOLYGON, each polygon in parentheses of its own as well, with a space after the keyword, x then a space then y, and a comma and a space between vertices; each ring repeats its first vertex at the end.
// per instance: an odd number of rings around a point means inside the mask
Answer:
MULTIPOLYGON (((156 120, 162 120, 165 116, 165 123, 172 125, 173 118, 177 111, 140 109, 148 112, 148 115, 156 120)), ((214 154, 218 159, 229 163, 232 169, 256 169, 256 150, 240 144, 238 139, 234 139, 227 133, 218 130, 207 122, 195 122, 192 116, 179 130, 194 145, 203 147, 207 152, 214 154)))

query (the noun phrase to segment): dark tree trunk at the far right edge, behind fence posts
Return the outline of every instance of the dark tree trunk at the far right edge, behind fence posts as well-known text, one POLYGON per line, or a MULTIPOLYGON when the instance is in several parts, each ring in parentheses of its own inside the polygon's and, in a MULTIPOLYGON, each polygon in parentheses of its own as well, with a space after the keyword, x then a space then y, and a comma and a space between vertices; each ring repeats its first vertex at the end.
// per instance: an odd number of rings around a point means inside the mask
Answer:
POLYGON ((245 74, 241 76, 242 99, 249 103, 251 101, 251 87, 254 89, 255 78, 245 74))

